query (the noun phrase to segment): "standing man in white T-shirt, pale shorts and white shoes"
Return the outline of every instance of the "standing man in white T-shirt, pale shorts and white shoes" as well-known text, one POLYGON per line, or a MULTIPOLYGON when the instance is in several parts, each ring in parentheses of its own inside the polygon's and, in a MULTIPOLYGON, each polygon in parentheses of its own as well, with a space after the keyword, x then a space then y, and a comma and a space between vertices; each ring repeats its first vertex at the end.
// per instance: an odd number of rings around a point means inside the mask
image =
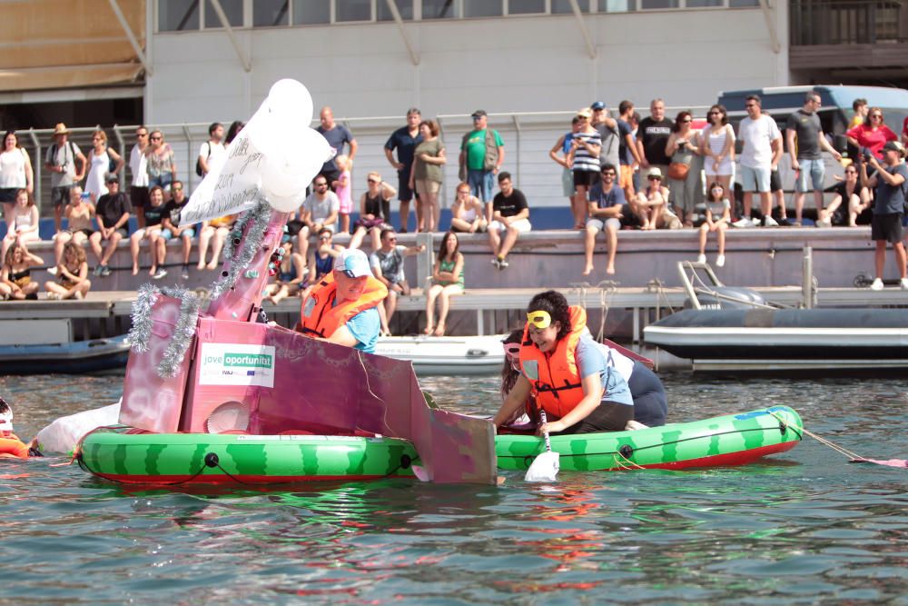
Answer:
POLYGON ((750 218, 754 192, 760 193, 760 210, 763 224, 778 225, 772 217, 773 201, 769 191, 769 177, 782 157, 782 132, 768 115, 760 110, 760 97, 749 95, 745 100, 747 117, 738 127, 738 139, 743 142, 741 152, 741 185, 744 188, 744 216, 735 227, 754 227, 750 218))

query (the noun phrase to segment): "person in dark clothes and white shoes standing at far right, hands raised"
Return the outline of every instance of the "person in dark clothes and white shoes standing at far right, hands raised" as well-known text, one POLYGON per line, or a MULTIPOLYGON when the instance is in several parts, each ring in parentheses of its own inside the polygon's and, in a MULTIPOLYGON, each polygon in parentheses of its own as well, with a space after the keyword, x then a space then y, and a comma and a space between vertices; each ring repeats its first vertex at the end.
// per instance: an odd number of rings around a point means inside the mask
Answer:
POLYGON ((908 200, 908 167, 904 163, 905 148, 898 141, 883 145, 883 163, 873 154, 866 154, 861 164, 861 184, 876 190, 873 205, 871 239, 876 243, 874 261, 876 278, 871 283, 873 291, 883 290, 883 263, 886 260, 886 243, 893 244, 895 264, 899 269, 902 290, 908 290, 905 277, 905 246, 902 242, 905 201, 908 200), (867 177, 867 167, 876 171, 867 177))

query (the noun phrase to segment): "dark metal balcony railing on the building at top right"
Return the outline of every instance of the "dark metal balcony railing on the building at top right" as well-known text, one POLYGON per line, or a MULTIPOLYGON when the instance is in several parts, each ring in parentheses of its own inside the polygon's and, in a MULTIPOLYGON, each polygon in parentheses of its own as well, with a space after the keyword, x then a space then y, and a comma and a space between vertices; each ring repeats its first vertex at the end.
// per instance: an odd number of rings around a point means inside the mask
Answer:
POLYGON ((792 0, 791 45, 908 42, 906 10, 904 0, 792 0))

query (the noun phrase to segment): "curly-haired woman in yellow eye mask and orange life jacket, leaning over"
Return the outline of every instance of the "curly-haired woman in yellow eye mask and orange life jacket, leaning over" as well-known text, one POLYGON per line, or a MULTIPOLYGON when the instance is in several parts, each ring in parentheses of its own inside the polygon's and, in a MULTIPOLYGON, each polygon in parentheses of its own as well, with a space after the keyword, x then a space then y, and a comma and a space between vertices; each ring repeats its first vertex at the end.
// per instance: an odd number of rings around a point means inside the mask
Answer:
POLYGON ((496 427, 532 394, 548 417, 539 434, 625 429, 634 419, 627 381, 608 365, 586 329, 586 312, 568 307, 563 294, 546 291, 533 297, 520 343, 521 374, 495 415, 496 427))

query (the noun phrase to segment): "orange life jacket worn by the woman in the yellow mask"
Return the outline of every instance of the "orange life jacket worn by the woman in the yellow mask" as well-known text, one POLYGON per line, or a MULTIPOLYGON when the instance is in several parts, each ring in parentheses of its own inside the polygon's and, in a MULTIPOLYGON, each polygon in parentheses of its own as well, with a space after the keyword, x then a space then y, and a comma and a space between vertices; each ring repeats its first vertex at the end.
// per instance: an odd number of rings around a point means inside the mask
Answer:
POLYGON ((533 386, 536 402, 554 419, 562 418, 583 400, 583 386, 574 354, 580 334, 587 327, 587 312, 582 307, 572 305, 568 308, 568 313, 570 333, 556 343, 554 352, 539 351, 529 339, 529 325, 523 330, 520 347, 520 367, 533 386), (533 369, 534 365, 536 369, 533 369))

